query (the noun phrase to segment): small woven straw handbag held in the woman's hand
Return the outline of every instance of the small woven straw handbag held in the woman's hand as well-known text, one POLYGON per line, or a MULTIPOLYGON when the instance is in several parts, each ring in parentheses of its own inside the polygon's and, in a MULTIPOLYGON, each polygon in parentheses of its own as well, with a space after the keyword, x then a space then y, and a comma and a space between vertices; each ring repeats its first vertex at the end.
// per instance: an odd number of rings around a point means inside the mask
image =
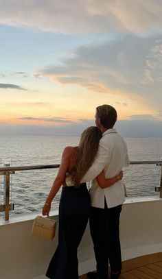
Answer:
POLYGON ((54 239, 56 232, 56 220, 49 217, 37 216, 32 226, 32 235, 43 237, 43 239, 54 239))

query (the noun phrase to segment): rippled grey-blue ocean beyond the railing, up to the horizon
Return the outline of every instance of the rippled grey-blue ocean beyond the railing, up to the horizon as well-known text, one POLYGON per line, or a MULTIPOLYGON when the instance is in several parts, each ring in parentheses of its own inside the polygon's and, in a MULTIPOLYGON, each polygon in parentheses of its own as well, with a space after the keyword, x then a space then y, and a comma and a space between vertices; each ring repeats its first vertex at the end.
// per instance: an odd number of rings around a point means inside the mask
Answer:
MULTIPOLYGON (((79 136, 5 136, 0 138, 0 166, 59 164, 63 149, 76 146, 79 136)), ((125 138, 130 160, 161 160, 162 138, 125 138)), ((10 202, 13 214, 41 211, 57 169, 16 171, 11 177, 10 202)), ((154 191, 160 184, 160 167, 130 165, 124 169, 128 196, 159 195, 154 191)), ((61 191, 61 190, 60 190, 61 191)), ((52 208, 58 208, 60 191, 52 208)), ((0 175, 0 203, 3 204, 3 175, 0 175)))

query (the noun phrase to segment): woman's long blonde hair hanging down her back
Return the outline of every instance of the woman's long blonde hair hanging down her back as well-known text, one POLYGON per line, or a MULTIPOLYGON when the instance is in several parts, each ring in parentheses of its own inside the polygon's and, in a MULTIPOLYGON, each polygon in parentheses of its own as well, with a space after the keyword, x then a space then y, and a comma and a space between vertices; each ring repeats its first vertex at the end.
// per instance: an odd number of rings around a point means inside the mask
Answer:
POLYGON ((67 177, 71 178, 73 185, 80 184, 80 180, 93 164, 100 138, 102 138, 102 132, 95 126, 91 126, 82 132, 74 166, 67 173, 67 177))

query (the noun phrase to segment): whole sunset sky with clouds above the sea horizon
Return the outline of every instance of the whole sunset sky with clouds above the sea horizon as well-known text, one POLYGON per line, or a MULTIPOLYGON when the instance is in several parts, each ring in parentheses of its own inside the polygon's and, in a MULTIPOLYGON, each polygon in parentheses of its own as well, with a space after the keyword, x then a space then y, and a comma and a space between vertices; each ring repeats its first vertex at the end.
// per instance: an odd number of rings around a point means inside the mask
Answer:
POLYGON ((0 0, 0 133, 79 135, 95 108, 162 137, 161 0, 0 0))

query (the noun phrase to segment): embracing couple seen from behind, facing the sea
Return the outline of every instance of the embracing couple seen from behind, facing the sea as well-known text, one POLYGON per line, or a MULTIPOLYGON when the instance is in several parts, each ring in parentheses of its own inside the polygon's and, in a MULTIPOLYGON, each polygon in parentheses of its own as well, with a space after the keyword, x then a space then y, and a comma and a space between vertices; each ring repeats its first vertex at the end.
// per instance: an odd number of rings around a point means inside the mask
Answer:
POLYGON ((77 249, 89 219, 97 272, 89 279, 118 279, 122 269, 119 216, 125 200, 122 168, 129 165, 122 136, 113 128, 115 108, 96 108, 96 127, 82 132, 78 147, 65 147, 60 168, 43 206, 49 215, 52 199, 62 186, 59 205, 58 247, 46 276, 78 279, 77 249), (90 191, 86 182, 91 181, 90 191))

